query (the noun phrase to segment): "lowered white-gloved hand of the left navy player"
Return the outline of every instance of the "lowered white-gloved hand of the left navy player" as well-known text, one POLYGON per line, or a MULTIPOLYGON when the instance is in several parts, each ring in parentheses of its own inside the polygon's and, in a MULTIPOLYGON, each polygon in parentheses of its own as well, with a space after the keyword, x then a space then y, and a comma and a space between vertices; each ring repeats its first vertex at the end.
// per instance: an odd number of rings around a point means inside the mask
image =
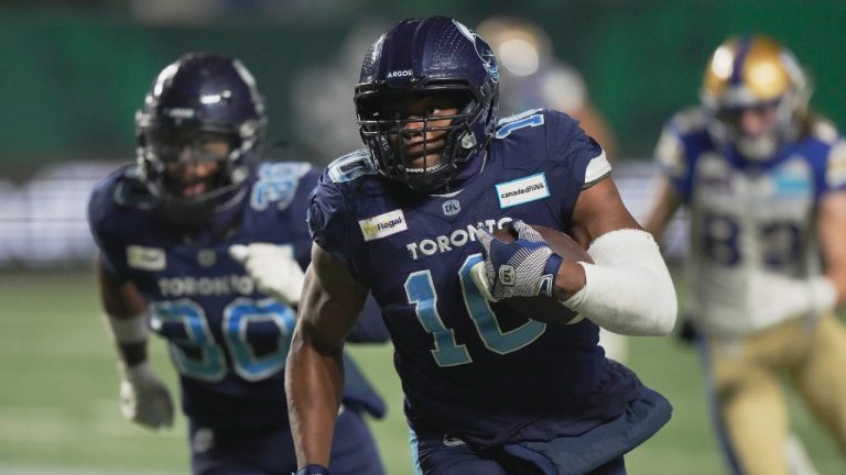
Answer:
POLYGON ((152 429, 173 426, 173 402, 167 387, 148 362, 134 366, 118 364, 120 412, 123 418, 152 429))

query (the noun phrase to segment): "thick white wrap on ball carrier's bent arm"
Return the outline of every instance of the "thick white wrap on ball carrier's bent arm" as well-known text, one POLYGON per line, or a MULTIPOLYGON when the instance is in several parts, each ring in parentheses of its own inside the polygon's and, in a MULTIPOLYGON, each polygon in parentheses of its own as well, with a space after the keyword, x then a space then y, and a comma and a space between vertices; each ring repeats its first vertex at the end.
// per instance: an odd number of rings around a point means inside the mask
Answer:
POLYGON ((595 264, 585 268, 585 287, 564 306, 614 333, 665 335, 677 311, 675 287, 652 235, 617 230, 587 248, 595 264))

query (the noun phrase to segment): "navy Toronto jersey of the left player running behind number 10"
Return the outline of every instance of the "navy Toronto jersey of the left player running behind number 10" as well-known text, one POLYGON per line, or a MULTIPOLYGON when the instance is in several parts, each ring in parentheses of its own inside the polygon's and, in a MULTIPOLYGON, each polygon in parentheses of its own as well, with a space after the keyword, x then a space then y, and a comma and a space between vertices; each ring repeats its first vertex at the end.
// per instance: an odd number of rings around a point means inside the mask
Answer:
MULTIPOLYGON (((191 241, 160 224, 133 167, 91 195, 88 219, 101 261, 148 300, 151 327, 167 340, 180 372, 183 409, 198 424, 251 432, 288 424, 283 368, 295 309, 260 294, 228 248, 288 245, 305 268, 305 209, 318 176, 306 163, 262 164, 241 205, 218 212, 191 241)), ((348 382, 355 396, 345 402, 381 413, 381 400, 360 378, 348 382)))

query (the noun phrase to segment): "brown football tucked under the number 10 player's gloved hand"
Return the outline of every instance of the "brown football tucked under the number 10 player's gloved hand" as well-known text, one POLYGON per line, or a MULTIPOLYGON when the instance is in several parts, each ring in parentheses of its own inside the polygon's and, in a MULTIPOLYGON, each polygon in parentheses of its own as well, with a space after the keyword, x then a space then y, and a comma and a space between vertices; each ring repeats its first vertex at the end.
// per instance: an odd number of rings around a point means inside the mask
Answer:
MULTIPOLYGON (((587 251, 582 248, 573 238, 566 233, 553 228, 531 224, 532 229, 538 231, 552 252, 566 261, 582 261, 593 263, 587 251)), ((505 242, 512 242, 517 236, 511 234, 510 228, 503 228, 494 232, 494 236, 505 242)), ((522 317, 532 320, 539 320, 544 323, 571 324, 582 321, 582 318, 573 310, 564 307, 553 297, 511 297, 502 300, 503 305, 520 313, 522 317)))

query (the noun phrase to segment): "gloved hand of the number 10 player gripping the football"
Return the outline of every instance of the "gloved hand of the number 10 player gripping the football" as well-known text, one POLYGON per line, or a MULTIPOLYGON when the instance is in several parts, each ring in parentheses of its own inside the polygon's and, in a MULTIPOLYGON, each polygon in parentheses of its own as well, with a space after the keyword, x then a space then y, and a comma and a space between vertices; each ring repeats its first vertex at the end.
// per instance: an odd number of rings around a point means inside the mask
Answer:
POLYGON ((510 243, 476 229, 485 259, 470 268, 476 286, 490 301, 509 297, 553 296, 562 258, 552 252, 541 234, 522 221, 511 222, 517 240, 510 243))

